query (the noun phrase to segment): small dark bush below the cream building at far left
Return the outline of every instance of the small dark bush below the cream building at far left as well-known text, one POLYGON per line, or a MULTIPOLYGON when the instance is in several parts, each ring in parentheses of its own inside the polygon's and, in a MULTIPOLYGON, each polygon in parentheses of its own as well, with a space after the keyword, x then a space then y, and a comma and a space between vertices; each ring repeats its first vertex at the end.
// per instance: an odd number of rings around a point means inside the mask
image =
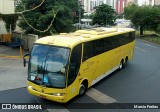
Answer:
POLYGON ((11 30, 14 31, 16 28, 16 22, 18 20, 17 14, 2 14, 2 20, 5 22, 6 29, 9 31, 10 25, 11 30))

